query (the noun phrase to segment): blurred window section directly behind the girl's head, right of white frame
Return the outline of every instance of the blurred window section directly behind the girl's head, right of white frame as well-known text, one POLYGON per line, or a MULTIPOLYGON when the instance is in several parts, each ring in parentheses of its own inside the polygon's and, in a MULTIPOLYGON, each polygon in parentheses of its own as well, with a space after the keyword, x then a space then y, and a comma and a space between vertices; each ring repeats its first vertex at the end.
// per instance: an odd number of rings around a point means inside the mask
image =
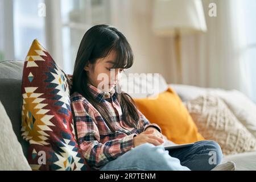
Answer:
POLYGON ((110 23, 109 1, 61 0, 64 71, 73 72, 82 36, 95 24, 110 23))

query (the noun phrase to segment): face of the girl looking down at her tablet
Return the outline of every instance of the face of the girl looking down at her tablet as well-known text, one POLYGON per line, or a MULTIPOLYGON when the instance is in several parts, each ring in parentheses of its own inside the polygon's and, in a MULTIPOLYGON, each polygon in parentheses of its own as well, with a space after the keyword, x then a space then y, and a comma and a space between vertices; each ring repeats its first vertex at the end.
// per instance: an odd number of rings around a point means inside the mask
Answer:
POLYGON ((116 52, 111 51, 108 56, 97 59, 95 64, 84 67, 89 83, 105 92, 110 92, 121 78, 122 68, 113 68, 116 52))

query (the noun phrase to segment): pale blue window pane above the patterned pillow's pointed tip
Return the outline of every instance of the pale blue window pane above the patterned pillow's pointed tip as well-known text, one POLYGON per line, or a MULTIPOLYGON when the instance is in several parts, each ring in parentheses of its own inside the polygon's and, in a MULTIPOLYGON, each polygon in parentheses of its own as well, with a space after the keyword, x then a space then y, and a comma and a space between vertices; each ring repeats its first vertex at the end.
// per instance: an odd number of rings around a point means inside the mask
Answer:
POLYGON ((45 20, 38 14, 43 0, 13 0, 14 57, 25 60, 32 40, 46 45, 45 20))

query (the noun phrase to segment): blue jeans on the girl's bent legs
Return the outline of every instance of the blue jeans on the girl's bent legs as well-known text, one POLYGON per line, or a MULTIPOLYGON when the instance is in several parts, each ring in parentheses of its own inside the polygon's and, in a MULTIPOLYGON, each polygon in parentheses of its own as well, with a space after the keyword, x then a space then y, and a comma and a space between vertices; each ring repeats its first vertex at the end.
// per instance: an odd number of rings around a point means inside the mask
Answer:
POLYGON ((193 146, 170 151, 164 150, 163 145, 154 146, 145 143, 131 148, 130 151, 105 164, 100 170, 209 171, 221 161, 221 148, 212 140, 199 141, 193 146))

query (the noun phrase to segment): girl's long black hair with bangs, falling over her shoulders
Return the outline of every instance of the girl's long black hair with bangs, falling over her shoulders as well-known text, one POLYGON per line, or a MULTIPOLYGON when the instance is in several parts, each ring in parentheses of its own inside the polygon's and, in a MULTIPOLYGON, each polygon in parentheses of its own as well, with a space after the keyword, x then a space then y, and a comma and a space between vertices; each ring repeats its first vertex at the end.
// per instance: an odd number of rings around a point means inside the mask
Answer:
MULTIPOLYGON (((98 24, 86 31, 81 40, 79 51, 77 52, 75 68, 73 72, 72 93, 82 94, 101 114, 109 129, 115 132, 112 125, 112 118, 109 111, 96 101, 88 88, 88 75, 84 70, 85 65, 95 64, 97 59, 106 57, 114 50, 117 52, 114 68, 127 69, 133 65, 133 51, 125 36, 108 24, 98 24)), ((122 108, 122 119, 128 126, 137 127, 139 121, 138 111, 133 99, 127 93, 118 93, 117 100, 122 108)))

